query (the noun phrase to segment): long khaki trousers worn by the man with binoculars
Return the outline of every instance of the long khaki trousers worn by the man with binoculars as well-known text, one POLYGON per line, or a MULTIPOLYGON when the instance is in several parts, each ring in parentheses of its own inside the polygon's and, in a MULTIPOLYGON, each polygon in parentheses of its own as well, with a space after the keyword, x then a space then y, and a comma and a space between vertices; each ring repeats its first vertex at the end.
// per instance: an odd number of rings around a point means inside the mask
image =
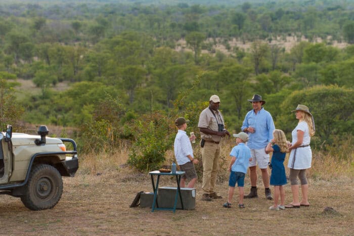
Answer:
POLYGON ((204 193, 215 192, 217 171, 219 170, 220 146, 216 143, 205 142, 202 148, 203 185, 204 193))

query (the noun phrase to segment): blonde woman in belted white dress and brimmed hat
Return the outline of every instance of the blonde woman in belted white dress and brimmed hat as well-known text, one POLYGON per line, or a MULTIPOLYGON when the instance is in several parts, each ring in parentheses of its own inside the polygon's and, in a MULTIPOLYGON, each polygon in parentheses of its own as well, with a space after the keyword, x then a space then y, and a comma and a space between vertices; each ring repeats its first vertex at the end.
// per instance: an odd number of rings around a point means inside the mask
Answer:
POLYGON ((308 183, 306 179, 306 169, 311 167, 312 151, 309 143, 311 137, 315 135, 314 116, 309 112, 308 107, 299 104, 295 110, 296 119, 299 123, 291 132, 292 142, 289 144, 289 163, 290 182, 293 201, 285 205, 286 208, 299 208, 300 206, 308 207, 308 183), (299 200, 299 183, 301 183, 302 199, 299 200))

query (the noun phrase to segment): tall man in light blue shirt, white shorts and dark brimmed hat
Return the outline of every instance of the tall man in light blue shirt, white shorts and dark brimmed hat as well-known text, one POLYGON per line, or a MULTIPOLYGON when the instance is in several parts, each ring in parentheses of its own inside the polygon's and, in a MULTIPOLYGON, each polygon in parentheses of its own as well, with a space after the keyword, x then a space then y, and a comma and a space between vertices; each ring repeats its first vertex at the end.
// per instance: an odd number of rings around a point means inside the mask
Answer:
POLYGON ((252 99, 247 101, 252 103, 253 109, 248 111, 243 121, 241 130, 248 134, 247 146, 251 149, 252 161, 249 163, 249 175, 251 179, 251 192, 245 195, 246 199, 257 198, 257 172, 256 165, 262 173, 262 180, 265 188, 265 197, 272 200, 272 193, 269 188, 269 153, 265 152, 268 142, 273 138, 275 130, 271 113, 264 110, 262 105, 265 101, 258 94, 254 94, 252 99))

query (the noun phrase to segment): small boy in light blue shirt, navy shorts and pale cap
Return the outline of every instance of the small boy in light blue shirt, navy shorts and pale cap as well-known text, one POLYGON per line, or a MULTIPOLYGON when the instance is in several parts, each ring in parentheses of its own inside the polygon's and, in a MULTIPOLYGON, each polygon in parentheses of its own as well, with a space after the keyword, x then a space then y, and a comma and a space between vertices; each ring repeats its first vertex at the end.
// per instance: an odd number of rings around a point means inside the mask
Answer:
POLYGON ((231 150, 231 162, 228 168, 230 171, 229 178, 229 199, 227 203, 224 203, 223 207, 231 208, 231 200, 234 195, 235 186, 237 186, 240 191, 240 201, 239 208, 245 208, 243 204, 243 185, 245 182, 245 174, 247 173, 248 164, 252 161, 251 150, 245 145, 248 141, 248 135, 246 133, 240 132, 234 134, 236 138, 237 145, 231 150))

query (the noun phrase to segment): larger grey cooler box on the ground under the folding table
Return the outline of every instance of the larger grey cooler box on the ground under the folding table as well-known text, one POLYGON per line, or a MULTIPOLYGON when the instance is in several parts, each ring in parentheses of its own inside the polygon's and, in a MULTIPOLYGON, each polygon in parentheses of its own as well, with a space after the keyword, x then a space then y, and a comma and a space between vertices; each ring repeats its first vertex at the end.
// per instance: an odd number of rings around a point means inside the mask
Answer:
MULTIPOLYGON (((157 194, 157 202, 160 208, 173 208, 174 198, 177 187, 159 187, 157 194)), ((181 195, 183 200, 184 210, 195 209, 195 188, 181 188, 181 195)), ((177 209, 182 209, 180 195, 177 199, 177 209)))

